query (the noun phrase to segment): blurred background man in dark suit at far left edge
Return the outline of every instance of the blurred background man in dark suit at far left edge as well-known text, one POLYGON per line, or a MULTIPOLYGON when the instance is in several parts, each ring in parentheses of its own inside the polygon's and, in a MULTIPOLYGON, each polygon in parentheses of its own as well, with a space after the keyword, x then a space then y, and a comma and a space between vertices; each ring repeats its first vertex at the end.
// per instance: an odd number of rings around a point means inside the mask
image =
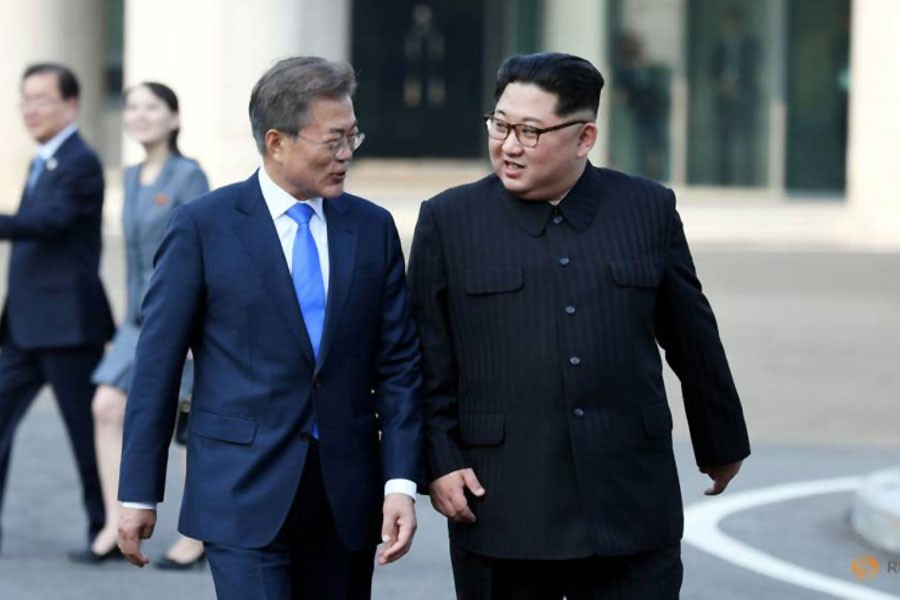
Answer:
POLYGON ((61 65, 32 65, 22 77, 22 116, 40 145, 19 211, 0 215, 0 239, 12 241, 0 322, 0 505, 16 427, 49 383, 81 475, 90 543, 104 522, 91 372, 113 321, 99 276, 103 168, 78 134, 78 91, 61 65))

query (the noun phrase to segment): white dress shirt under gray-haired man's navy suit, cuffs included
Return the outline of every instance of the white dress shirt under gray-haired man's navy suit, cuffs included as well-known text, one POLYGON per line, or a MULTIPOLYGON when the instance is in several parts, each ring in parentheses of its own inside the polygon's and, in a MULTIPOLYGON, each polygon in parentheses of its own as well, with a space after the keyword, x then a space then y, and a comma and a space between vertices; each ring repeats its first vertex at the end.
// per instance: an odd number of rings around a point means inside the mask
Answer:
MULTIPOLYGON (((260 167, 258 171, 259 187, 262 190, 263 199, 266 201, 266 208, 272 216, 275 223, 275 231, 278 232, 278 240, 281 242, 281 250, 284 253, 284 260, 287 261, 288 270, 293 273, 293 257, 294 257, 294 239, 297 237, 297 222, 290 218, 287 211, 297 202, 309 204, 313 209, 313 217, 309 221, 309 231, 316 242, 316 249, 319 252, 319 266, 322 269, 322 283, 325 286, 325 295, 328 296, 328 280, 331 263, 328 260, 328 227, 325 223, 325 211, 322 208, 322 198, 310 198, 309 200, 297 200, 286 191, 278 187, 269 174, 266 173, 265 167, 260 167)), ((384 484, 384 495, 394 493, 402 493, 410 496, 414 501, 416 499, 416 484, 408 479, 389 479, 384 484)), ((123 502, 122 506, 126 508, 145 508, 155 509, 156 503, 153 502, 123 502)))

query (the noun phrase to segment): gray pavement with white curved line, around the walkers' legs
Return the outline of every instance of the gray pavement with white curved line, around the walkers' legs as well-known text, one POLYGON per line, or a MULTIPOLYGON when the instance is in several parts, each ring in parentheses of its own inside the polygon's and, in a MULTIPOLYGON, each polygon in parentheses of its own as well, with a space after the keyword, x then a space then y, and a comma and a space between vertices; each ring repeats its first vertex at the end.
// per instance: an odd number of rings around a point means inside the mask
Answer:
MULTIPOLYGON (((398 223, 417 209, 412 200, 384 202, 398 223)), ((408 245, 410 231, 401 229, 408 245)), ((667 374, 690 515, 682 597, 900 599, 900 556, 873 549, 850 524, 860 478, 900 466, 900 254, 819 243, 773 250, 700 237, 695 262, 743 398, 753 455, 721 496, 733 506, 708 504, 677 380, 667 374), (806 491, 795 489, 803 485, 806 491), (880 571, 854 574, 854 564, 871 564, 868 557, 880 571)), ((111 235, 106 243, 103 274, 122 314, 122 242, 111 235)), ((6 255, 0 247, 0 281, 6 255)), ((146 543, 151 557, 174 539, 179 480, 176 466, 157 533, 146 543)), ((66 552, 83 542, 84 517, 68 442, 46 390, 19 429, 2 518, 0 600, 214 597, 206 568, 163 573, 67 561, 66 552)), ((446 529, 424 498, 419 519, 412 552, 376 568, 374 598, 453 598, 446 529)))

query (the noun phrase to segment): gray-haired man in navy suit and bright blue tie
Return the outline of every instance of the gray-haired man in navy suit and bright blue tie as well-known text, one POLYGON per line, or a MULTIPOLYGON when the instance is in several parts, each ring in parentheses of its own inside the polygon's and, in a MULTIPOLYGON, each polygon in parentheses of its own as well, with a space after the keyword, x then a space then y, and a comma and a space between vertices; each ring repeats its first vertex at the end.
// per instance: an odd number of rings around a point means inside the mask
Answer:
POLYGON ((343 193, 354 87, 320 58, 259 80, 262 168, 175 209, 144 301, 119 545, 146 563, 156 517, 138 507, 163 499, 190 348, 179 529, 206 543, 219 598, 368 598, 378 540, 382 563, 412 542, 418 337, 393 220, 343 193))

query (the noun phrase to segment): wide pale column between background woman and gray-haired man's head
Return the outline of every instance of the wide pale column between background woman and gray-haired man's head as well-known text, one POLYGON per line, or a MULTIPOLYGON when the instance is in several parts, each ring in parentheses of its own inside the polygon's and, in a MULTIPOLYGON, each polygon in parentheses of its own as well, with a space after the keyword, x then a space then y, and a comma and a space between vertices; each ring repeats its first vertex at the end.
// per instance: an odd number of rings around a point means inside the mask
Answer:
MULTIPOLYGON (((183 152, 213 187, 245 179, 260 159, 247 107, 276 60, 349 57, 349 0, 127 0, 125 81, 170 85, 181 103, 183 152)), ((140 159, 125 143, 124 162, 140 159)))

